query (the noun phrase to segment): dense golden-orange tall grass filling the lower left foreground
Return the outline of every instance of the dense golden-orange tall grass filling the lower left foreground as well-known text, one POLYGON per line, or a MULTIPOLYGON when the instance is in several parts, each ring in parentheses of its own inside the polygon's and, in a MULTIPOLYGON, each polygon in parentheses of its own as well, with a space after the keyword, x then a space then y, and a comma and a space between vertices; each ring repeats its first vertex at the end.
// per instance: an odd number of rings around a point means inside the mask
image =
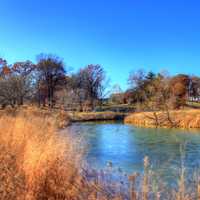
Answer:
POLYGON ((50 117, 0 118, 1 199, 48 199, 70 194, 80 153, 50 117), (69 194, 68 194, 69 193, 69 194))

